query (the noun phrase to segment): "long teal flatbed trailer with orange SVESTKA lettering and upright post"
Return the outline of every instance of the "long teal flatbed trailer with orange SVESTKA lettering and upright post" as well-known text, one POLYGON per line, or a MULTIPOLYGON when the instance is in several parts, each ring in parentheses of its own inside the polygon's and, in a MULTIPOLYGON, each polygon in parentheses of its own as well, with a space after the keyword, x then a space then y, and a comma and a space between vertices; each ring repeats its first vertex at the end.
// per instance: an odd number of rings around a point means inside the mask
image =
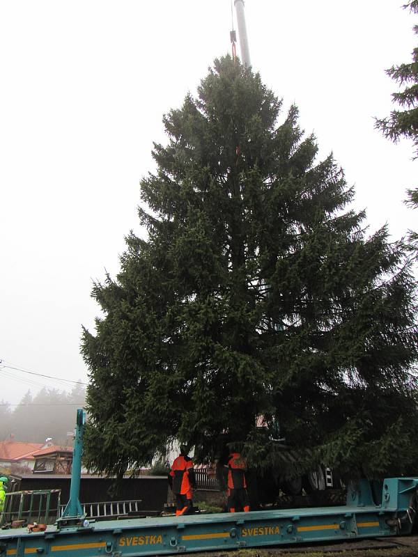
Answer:
POLYGON ((386 479, 380 504, 373 501, 369 481, 359 480, 349 485, 347 503, 339 507, 89 521, 78 501, 83 430, 79 410, 70 501, 63 516, 45 531, 1 530, 0 557, 139 557, 288 546, 408 535, 415 524, 418 477, 386 479))

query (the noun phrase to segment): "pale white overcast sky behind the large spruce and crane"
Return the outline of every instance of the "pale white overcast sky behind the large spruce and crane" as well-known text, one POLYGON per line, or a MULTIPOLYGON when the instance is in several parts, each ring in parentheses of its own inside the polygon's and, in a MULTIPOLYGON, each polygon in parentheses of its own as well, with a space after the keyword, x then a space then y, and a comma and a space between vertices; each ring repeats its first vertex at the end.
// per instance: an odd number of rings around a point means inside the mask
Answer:
MULTIPOLYGON (((331 150, 370 230, 416 226, 412 147, 373 129, 408 62, 416 18, 402 0, 247 0, 251 63, 284 107, 331 150)), ((162 116, 230 51, 231 0, 0 2, 0 359, 87 381, 82 324, 92 279, 114 276, 124 235, 139 235, 139 180, 165 141, 162 116)), ((0 398, 64 382, 0 370, 0 398)), ((66 384, 71 389, 71 384, 66 384)))

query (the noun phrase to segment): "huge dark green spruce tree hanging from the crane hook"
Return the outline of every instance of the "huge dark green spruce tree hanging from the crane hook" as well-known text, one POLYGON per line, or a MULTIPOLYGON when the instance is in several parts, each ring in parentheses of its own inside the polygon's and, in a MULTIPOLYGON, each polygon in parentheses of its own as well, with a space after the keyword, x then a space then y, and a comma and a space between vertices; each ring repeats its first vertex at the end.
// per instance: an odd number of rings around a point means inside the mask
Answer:
POLYGON ((415 290, 401 242, 368 237, 332 156, 228 56, 164 117, 141 182, 148 239, 95 283, 86 458, 123 473, 168 439, 274 465, 281 437, 341 470, 417 462, 415 290), (256 427, 260 417, 268 427, 256 427))

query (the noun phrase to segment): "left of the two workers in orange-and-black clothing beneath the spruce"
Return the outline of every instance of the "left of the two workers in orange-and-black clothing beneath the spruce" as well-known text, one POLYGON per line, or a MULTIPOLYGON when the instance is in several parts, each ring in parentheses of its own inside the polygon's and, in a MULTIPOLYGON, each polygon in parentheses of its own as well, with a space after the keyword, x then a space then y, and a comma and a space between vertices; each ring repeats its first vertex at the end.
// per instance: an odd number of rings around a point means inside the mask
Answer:
POLYGON ((180 455, 174 460, 169 473, 169 485, 176 496, 176 517, 189 515, 193 510, 193 489, 196 487, 193 462, 187 456, 187 447, 180 446, 180 455))

